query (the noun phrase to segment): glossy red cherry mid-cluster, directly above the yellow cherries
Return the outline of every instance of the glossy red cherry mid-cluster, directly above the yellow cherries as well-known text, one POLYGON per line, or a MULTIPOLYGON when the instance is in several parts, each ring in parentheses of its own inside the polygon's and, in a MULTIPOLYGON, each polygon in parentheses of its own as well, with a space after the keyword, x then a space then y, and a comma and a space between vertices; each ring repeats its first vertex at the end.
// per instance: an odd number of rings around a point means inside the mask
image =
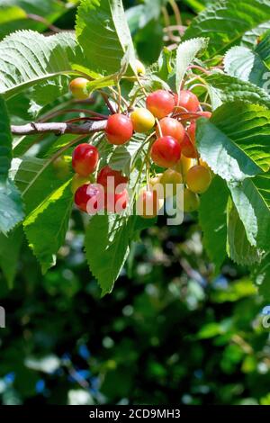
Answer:
POLYGON ((157 166, 175 166, 181 157, 180 143, 173 137, 160 137, 152 145, 151 157, 157 166))

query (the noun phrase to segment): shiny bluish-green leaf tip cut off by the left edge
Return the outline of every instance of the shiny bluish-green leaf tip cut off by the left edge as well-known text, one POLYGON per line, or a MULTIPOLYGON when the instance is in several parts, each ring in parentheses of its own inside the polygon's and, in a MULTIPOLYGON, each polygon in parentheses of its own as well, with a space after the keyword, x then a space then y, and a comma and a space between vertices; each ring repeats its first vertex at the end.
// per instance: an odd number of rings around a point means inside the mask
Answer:
POLYGON ((23 220, 21 195, 13 181, 0 184, 0 232, 5 235, 23 220))

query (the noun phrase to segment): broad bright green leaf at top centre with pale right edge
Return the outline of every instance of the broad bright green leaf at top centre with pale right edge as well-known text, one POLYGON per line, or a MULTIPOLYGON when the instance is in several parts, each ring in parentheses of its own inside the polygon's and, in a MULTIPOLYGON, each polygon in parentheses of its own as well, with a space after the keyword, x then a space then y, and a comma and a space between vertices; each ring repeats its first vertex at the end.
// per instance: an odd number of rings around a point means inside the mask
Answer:
MULTIPOLYGON (((76 15, 76 38, 92 76, 119 71, 121 59, 132 49, 130 30, 119 0, 82 0, 76 15)), ((132 66, 133 53, 130 64, 132 66)))

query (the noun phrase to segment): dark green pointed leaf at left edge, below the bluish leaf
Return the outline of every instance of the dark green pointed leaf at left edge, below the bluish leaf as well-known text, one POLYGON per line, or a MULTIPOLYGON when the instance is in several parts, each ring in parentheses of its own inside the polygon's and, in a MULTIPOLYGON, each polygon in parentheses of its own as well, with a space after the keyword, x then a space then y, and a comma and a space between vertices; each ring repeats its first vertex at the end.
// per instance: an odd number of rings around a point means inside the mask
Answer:
POLYGON ((14 284, 22 242, 22 227, 15 229, 8 237, 0 233, 0 267, 10 288, 14 284))

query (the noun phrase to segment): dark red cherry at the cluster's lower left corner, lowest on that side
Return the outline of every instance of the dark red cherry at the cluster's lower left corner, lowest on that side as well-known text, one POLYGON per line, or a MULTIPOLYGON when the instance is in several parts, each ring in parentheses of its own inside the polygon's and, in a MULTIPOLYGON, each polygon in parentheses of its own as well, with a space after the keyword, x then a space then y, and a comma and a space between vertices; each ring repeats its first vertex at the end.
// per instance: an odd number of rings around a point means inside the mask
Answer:
POLYGON ((84 184, 75 193, 76 206, 89 214, 95 214, 103 209, 103 192, 95 184, 84 184))

